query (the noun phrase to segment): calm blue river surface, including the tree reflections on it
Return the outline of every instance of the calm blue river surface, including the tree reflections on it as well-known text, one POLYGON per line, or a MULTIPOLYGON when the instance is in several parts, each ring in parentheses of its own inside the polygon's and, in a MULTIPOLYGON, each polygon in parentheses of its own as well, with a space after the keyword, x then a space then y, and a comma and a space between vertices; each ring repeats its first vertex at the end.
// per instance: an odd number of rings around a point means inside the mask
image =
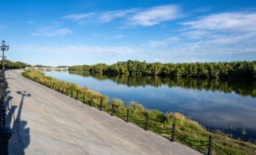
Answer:
POLYGON ((256 139, 256 81, 218 81, 159 77, 106 76, 79 72, 46 75, 88 87, 145 108, 177 111, 210 130, 256 139), (245 135, 242 132, 246 133, 245 135))

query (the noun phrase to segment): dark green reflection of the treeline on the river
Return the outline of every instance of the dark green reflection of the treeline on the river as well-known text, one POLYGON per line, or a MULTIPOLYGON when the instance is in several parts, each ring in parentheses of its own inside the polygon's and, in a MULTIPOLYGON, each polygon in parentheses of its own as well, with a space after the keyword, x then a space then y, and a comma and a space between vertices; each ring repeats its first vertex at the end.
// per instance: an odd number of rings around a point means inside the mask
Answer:
POLYGON ((70 74, 79 74, 83 77, 93 77, 100 81, 111 80, 116 84, 125 84, 128 87, 182 87, 194 90, 211 90, 223 93, 235 92, 240 96, 256 97, 256 81, 241 79, 239 81, 228 81, 220 79, 196 79, 196 78, 163 78, 158 76, 125 76, 125 75, 106 75, 91 74, 89 72, 69 72, 70 74))

